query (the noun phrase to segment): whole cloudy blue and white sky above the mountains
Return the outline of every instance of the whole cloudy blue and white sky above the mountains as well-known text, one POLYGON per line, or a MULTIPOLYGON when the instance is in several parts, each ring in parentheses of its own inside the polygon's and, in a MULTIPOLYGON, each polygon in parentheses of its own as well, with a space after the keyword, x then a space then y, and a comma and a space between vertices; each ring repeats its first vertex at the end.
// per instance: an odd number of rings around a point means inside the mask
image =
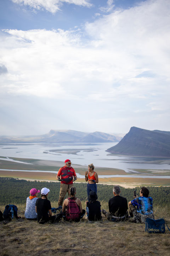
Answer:
POLYGON ((0 0, 0 135, 170 131, 169 0, 0 0))

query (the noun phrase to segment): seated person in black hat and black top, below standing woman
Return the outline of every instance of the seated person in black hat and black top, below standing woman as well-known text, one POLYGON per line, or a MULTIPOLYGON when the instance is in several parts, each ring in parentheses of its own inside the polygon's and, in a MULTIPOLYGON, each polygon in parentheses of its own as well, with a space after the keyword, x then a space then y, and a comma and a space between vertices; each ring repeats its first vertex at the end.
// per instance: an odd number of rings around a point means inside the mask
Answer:
POLYGON ((90 202, 86 202, 87 206, 87 217, 89 221, 96 221, 96 220, 101 220, 101 204, 97 200, 97 194, 95 191, 90 191, 89 194, 89 200, 90 202))

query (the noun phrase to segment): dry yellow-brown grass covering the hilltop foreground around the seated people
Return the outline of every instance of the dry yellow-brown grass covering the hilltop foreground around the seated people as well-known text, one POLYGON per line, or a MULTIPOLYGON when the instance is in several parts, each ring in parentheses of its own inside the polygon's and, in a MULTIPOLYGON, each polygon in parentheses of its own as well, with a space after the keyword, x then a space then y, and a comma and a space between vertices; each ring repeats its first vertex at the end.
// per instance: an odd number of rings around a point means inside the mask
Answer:
MULTIPOLYGON (((106 202, 101 202, 107 208, 106 202)), ((25 205, 17 205, 24 214, 25 205)), ((85 208, 85 202, 83 202, 85 208)), ((4 206, 0 207, 1 211, 4 206)), ((155 208, 157 218, 164 217, 170 223, 168 207, 155 208)), ((144 224, 128 222, 112 223, 103 217, 101 222, 88 223, 85 218, 80 223, 60 222, 40 225, 36 221, 19 222, 12 220, 0 223, 0 255, 168 255, 170 232, 148 234, 144 224)))

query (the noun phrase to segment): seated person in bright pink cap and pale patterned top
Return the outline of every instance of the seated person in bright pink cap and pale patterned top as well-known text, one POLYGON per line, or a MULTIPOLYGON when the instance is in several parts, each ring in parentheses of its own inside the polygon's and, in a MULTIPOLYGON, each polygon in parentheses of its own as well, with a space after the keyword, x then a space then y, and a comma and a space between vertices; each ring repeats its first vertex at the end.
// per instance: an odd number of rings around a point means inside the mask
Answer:
POLYGON ((38 199, 38 193, 40 193, 40 190, 36 188, 32 188, 30 191, 30 196, 27 197, 27 202, 26 202, 26 211, 25 211, 25 217, 26 219, 29 220, 36 220, 37 218, 37 213, 35 212, 35 203, 36 200, 38 199))

